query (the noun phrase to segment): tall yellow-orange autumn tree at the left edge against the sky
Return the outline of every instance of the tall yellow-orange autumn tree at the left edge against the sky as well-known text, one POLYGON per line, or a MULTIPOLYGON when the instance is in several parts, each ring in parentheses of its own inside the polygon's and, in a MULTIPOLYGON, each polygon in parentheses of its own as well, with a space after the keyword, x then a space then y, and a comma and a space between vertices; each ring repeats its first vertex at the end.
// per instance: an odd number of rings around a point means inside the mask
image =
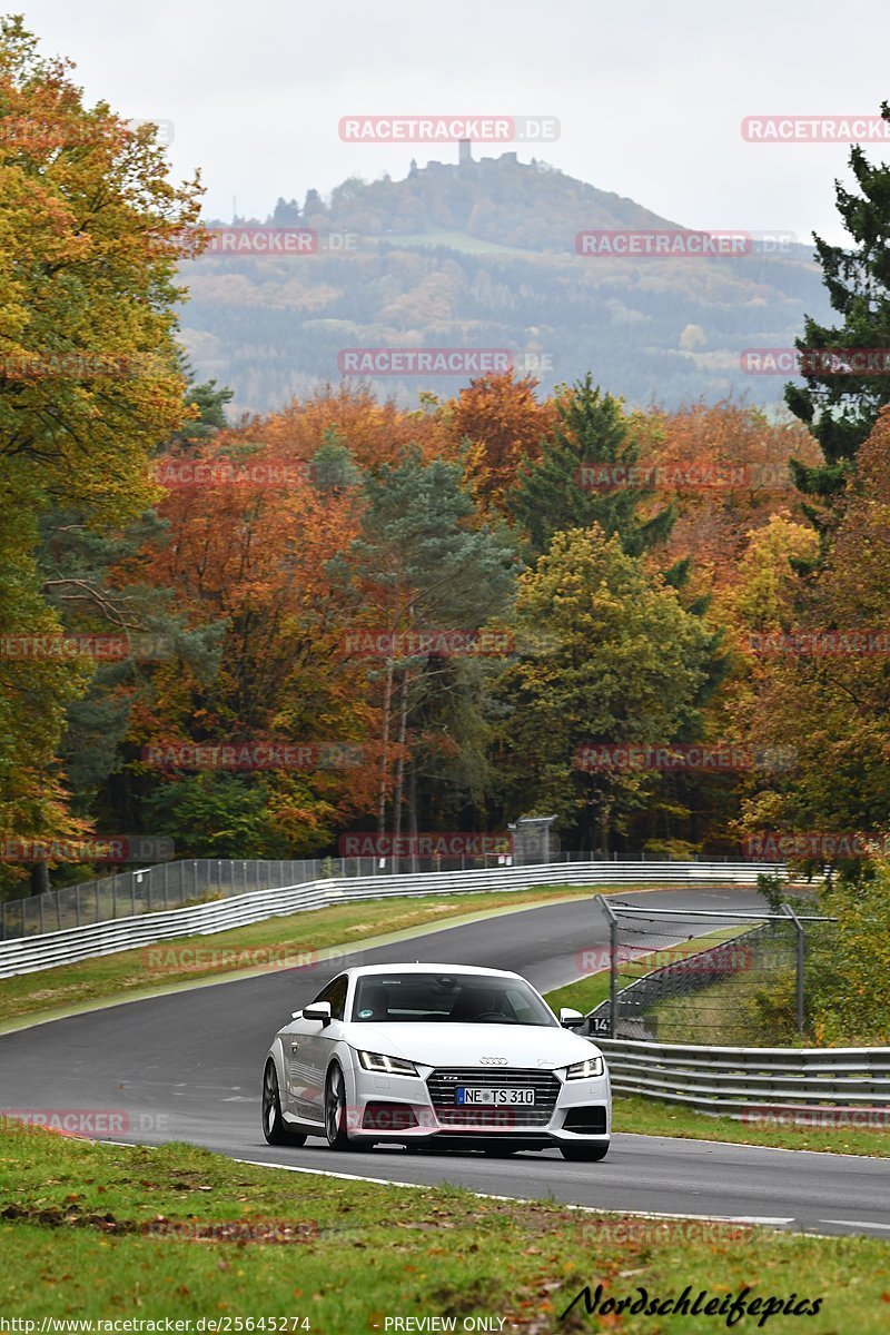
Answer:
MULTIPOLYGON (((173 334, 176 187, 151 125, 88 108, 61 60, 0 20, 0 585, 3 627, 61 622, 40 593, 37 519, 64 501, 91 525, 137 515, 147 463, 183 421, 173 334)), ((0 662, 0 834, 65 828, 55 750, 83 668, 0 662), (37 716, 39 724, 31 721, 37 716)))

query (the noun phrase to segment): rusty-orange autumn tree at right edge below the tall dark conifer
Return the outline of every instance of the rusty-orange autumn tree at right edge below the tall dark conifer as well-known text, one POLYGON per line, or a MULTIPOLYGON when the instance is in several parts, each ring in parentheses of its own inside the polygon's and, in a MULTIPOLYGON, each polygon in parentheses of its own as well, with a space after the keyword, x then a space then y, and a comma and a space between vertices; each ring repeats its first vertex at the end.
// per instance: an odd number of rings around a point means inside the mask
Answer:
MULTIPOLYGON (((763 625, 753 621, 758 606, 769 607, 773 599, 770 629, 833 637, 815 650, 806 639, 774 651, 753 641, 751 736, 759 745, 790 748, 797 768, 791 782, 771 785, 750 800, 749 829, 887 829, 889 465, 890 414, 885 410, 859 450, 842 517, 817 573, 795 577, 786 562, 781 598, 771 593, 775 583, 769 569, 761 575, 763 589, 754 606, 747 597, 753 631, 763 625)), ((814 547, 811 538, 805 555, 814 547)))

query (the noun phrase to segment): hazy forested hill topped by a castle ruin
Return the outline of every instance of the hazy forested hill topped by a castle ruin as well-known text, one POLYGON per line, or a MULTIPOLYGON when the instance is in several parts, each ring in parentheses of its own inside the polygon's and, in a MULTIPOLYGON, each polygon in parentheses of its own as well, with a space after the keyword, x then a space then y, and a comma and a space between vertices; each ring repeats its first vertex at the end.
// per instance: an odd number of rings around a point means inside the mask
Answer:
MULTIPOLYGON (((755 244, 735 259, 579 256, 578 232, 671 228, 631 199, 515 154, 430 163, 404 180, 310 190, 264 219, 319 235, 312 255, 203 255, 184 266, 196 372, 263 411, 338 380, 344 347, 510 348, 544 390, 592 370, 631 403, 674 407, 730 391, 778 402, 783 376, 741 370, 749 347, 790 347, 827 315, 811 251, 755 244)), ((707 227, 707 219, 682 226, 707 227)), ((404 405, 463 379, 380 378, 404 405)))

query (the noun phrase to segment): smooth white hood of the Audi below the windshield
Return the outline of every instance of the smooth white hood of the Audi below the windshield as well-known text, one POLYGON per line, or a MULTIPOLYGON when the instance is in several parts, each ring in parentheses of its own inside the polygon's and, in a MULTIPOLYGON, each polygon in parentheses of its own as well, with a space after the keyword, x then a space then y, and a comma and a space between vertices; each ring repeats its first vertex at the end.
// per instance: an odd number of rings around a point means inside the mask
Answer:
POLYGON ((347 1024, 343 1036, 352 1048, 428 1067, 474 1067, 483 1057, 506 1057, 508 1067, 555 1069, 599 1055, 576 1033, 538 1025, 347 1024))

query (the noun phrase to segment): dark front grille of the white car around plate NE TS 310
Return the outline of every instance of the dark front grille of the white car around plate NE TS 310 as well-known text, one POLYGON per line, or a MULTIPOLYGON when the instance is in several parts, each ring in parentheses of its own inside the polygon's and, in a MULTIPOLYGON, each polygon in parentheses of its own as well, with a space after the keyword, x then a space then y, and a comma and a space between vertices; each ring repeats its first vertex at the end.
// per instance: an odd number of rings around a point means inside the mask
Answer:
POLYGON ((559 1080, 550 1071, 523 1071, 516 1067, 448 1067, 427 1077, 427 1089, 443 1127, 490 1127, 498 1131, 546 1127, 559 1097, 559 1080), (534 1089, 534 1104, 458 1105, 458 1085, 486 1089, 534 1089))

